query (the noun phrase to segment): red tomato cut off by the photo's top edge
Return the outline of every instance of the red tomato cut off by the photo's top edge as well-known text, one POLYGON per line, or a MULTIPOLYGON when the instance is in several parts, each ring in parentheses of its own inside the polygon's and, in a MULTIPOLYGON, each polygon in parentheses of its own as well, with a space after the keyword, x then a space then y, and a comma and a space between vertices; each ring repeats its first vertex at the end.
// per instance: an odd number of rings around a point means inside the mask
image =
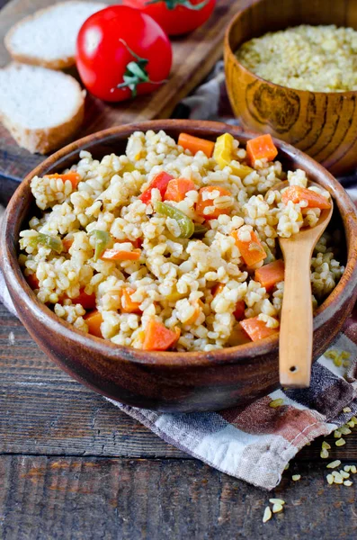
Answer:
POLYGON ((176 36, 205 23, 216 0, 123 0, 123 4, 150 15, 170 36, 176 36))

